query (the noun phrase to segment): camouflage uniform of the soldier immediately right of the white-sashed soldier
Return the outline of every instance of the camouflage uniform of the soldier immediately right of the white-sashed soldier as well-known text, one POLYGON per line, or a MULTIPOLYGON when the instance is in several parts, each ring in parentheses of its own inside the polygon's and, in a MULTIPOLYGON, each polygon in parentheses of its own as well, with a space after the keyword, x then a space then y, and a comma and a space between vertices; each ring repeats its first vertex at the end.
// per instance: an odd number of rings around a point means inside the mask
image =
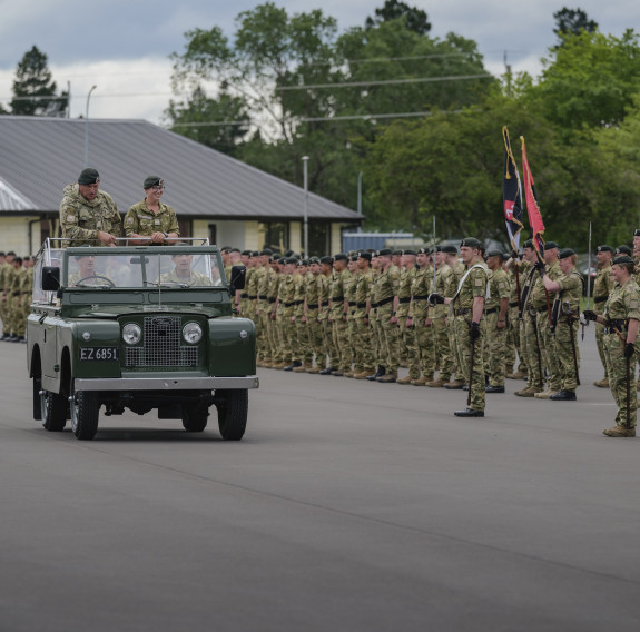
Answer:
MULTIPOLYGON (((506 323, 498 327, 501 299, 509 300, 509 277, 502 268, 498 268, 489 277, 489 298, 484 304, 484 323, 486 344, 484 359, 490 386, 504 386, 504 349, 506 347, 506 323)), ((505 314, 506 316, 506 314, 505 314)))

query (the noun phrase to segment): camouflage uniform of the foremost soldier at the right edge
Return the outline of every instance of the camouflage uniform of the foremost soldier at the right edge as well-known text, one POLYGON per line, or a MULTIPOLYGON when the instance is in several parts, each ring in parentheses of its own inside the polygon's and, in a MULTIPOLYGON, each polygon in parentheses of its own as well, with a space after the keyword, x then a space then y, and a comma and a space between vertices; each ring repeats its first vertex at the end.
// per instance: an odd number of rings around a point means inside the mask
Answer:
MULTIPOLYGON (((624 357, 624 332, 630 318, 640 320, 639 305, 640 287, 633 280, 629 279, 623 286, 616 285, 611 290, 604 305, 603 317, 611 323, 604 333, 604 357, 607 359, 607 373, 609 375, 609 387, 618 406, 616 424, 626 426, 627 424, 627 401, 629 399, 629 422, 631 427, 636 427, 636 411, 638 401, 636 393, 627 397, 627 358, 624 357), (616 329, 622 335, 619 338, 616 329)), ((638 354, 638 340, 636 342, 636 354, 638 354)), ((630 386, 633 388, 636 379, 634 358, 629 361, 630 386)))

